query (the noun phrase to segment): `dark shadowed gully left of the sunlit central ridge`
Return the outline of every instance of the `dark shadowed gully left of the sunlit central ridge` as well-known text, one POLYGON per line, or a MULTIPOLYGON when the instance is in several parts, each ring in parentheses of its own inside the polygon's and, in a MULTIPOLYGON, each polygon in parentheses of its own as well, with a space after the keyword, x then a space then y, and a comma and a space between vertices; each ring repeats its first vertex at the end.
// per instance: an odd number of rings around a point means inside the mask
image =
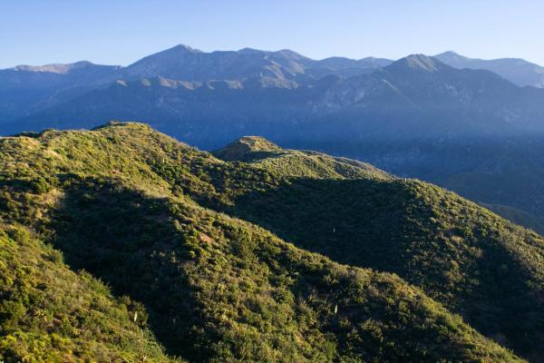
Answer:
POLYGON ((74 270, 91 272, 115 296, 145 306, 150 328, 168 354, 206 360, 211 337, 199 319, 198 291, 183 269, 186 236, 170 218, 165 199, 118 182, 71 181, 51 224, 53 245, 74 270))

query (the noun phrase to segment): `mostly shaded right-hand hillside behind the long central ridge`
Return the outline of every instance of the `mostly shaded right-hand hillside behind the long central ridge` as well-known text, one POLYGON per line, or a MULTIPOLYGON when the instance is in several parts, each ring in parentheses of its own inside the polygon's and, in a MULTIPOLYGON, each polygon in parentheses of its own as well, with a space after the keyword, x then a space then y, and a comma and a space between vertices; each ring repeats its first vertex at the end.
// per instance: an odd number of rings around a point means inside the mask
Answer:
POLYGON ((225 211, 337 262, 394 272, 482 334, 541 356, 541 282, 512 252, 516 232, 452 193, 403 180, 294 179, 225 211))

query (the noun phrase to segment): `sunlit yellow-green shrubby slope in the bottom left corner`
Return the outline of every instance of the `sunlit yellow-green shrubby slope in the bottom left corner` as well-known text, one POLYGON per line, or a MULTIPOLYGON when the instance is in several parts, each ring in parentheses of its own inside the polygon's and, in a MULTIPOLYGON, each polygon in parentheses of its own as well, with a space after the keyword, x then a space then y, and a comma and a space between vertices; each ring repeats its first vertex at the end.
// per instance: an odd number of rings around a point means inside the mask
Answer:
POLYGON ((115 299, 100 280, 84 271, 74 273, 59 250, 24 227, 2 225, 0 249, 3 361, 173 360, 146 328, 141 304, 115 299))

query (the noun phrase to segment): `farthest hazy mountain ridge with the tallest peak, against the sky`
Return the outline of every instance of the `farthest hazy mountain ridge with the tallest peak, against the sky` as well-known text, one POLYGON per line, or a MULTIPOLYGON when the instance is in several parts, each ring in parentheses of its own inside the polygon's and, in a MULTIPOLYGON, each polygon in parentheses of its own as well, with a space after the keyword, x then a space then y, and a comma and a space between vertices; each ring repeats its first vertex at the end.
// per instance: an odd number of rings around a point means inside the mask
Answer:
POLYGON ((296 80, 327 74, 369 73, 390 63, 372 57, 314 61, 289 50, 264 52, 246 48, 238 52, 204 53, 180 44, 127 67, 89 62, 19 65, 0 71, 0 123, 74 99, 116 80, 159 76, 191 82, 257 78, 262 83, 294 87, 296 80))

